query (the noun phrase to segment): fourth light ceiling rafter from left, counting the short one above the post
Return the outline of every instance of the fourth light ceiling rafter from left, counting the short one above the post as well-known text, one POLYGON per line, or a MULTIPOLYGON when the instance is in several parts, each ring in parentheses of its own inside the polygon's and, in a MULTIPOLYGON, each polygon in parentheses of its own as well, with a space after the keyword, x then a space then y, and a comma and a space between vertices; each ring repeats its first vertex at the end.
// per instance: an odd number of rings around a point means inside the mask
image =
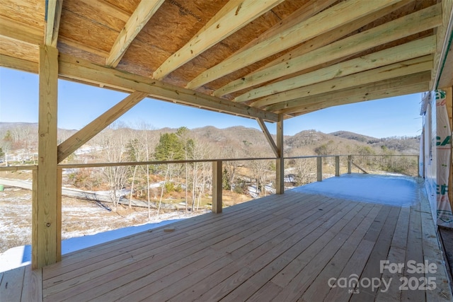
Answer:
POLYGON ((186 87, 190 89, 198 88, 205 83, 219 79, 244 66, 258 62, 282 50, 287 50, 289 47, 299 45, 306 40, 316 37, 316 35, 327 33, 333 28, 338 28, 345 23, 379 11, 379 9, 390 6, 398 1, 401 0, 348 0, 340 2, 340 4, 321 11, 321 13, 316 14, 306 21, 294 25, 292 28, 288 28, 283 33, 274 35, 248 50, 233 54, 220 64, 202 72, 202 74, 190 81, 186 87))

